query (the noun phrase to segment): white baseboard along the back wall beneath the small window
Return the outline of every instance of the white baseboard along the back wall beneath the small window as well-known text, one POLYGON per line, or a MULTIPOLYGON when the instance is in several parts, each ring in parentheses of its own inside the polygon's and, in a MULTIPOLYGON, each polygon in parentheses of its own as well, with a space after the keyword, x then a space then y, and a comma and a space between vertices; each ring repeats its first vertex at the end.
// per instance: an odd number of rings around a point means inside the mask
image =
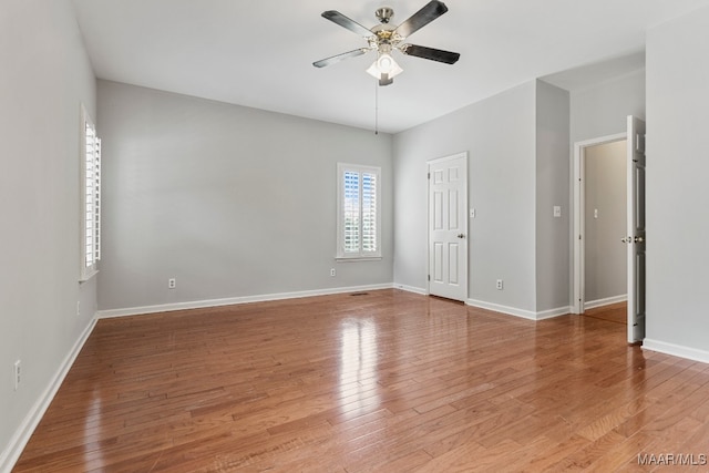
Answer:
POLYGON ((162 304, 156 306, 129 307, 125 309, 100 310, 97 317, 107 319, 112 317, 137 316, 145 313, 171 312, 174 310, 204 309, 207 307, 233 306, 249 302, 266 302, 269 300, 297 299, 301 297, 330 296, 343 292, 360 292, 363 290, 392 289, 392 284, 339 287, 332 289, 304 290, 298 292, 264 294, 257 296, 228 297, 224 299, 194 300, 189 302, 162 304))

